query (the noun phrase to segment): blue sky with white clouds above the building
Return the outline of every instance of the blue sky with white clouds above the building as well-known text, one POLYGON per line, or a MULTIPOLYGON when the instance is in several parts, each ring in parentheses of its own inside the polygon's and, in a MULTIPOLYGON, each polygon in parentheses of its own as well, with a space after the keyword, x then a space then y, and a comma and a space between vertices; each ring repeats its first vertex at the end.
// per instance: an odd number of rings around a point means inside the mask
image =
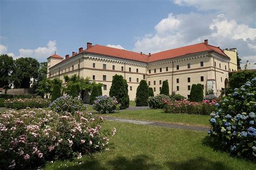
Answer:
POLYGON ((254 0, 0 0, 0 54, 39 62, 86 42, 156 53, 208 43, 256 62, 254 0))

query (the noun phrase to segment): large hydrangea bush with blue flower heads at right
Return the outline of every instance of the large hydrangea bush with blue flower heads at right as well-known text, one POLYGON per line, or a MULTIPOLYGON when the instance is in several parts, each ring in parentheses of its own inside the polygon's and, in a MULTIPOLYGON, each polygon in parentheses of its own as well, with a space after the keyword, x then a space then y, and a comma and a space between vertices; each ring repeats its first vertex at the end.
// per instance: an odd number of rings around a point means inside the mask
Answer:
POLYGON ((211 113, 208 133, 224 150, 239 157, 256 159, 256 78, 226 95, 211 113))

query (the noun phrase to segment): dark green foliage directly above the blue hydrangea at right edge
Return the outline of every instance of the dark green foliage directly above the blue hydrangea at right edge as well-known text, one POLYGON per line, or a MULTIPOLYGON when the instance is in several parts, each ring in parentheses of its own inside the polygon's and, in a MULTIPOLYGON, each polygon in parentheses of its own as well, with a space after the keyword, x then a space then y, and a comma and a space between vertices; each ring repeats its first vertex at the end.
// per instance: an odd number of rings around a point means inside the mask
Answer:
POLYGON ((238 72, 233 72, 228 74, 230 88, 239 88, 247 81, 252 80, 256 77, 256 70, 239 70, 238 72))

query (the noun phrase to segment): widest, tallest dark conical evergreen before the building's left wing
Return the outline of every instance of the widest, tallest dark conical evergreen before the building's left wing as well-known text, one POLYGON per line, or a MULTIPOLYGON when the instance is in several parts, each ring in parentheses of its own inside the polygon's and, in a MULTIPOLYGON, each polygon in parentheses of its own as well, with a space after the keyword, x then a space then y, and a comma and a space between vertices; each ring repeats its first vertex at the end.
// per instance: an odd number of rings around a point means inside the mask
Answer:
POLYGON ((129 107, 128 84, 122 75, 113 76, 109 95, 117 98, 118 103, 121 104, 120 109, 129 107))

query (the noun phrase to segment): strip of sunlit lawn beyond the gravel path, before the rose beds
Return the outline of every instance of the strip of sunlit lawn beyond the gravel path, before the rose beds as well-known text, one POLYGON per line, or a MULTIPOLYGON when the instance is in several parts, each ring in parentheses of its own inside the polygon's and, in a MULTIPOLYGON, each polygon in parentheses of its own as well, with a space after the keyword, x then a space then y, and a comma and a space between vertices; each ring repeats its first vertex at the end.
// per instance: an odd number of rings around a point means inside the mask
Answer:
POLYGON ((134 119, 138 121, 154 121, 197 126, 210 125, 210 116, 208 115, 166 114, 162 109, 122 110, 104 116, 134 119))

